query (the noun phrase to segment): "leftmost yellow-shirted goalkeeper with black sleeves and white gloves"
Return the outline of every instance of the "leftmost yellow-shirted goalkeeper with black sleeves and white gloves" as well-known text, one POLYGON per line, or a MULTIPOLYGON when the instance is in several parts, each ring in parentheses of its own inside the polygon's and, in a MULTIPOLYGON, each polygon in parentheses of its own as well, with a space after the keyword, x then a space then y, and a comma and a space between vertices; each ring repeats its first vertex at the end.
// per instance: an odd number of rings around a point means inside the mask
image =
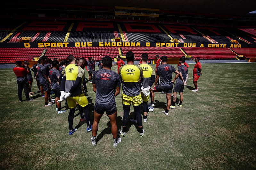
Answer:
POLYGON ((87 98, 82 91, 82 81, 84 77, 84 70, 76 65, 76 58, 73 55, 67 57, 70 64, 66 66, 63 71, 63 78, 61 81, 61 97, 60 100, 67 99, 68 106, 70 108, 68 121, 69 121, 69 135, 72 135, 77 128, 73 128, 73 120, 76 109, 76 103, 84 108, 86 122, 87 122, 87 132, 92 130, 92 125, 90 123, 90 109, 87 98))

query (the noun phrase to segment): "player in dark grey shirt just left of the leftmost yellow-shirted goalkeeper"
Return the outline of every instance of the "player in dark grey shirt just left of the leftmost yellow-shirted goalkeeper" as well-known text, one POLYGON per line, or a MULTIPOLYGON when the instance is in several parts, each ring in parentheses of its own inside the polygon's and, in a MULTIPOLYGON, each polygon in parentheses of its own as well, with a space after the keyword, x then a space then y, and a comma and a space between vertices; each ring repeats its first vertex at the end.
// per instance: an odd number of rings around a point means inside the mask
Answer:
POLYGON ((56 104, 56 111, 58 111, 58 114, 66 112, 66 110, 61 110, 61 102, 57 102, 57 100, 60 100, 61 97, 61 85, 60 85, 60 71, 57 70, 59 66, 59 61, 54 60, 52 63, 52 69, 49 71, 49 82, 52 87, 52 90, 56 96, 55 98, 55 104, 56 104))

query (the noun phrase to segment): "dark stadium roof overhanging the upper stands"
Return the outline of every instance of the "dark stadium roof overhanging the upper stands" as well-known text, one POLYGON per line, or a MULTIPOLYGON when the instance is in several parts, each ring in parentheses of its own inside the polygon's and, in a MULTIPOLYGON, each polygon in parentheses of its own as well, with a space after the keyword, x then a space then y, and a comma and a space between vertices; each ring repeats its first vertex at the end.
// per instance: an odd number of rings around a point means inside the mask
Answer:
MULTIPOLYGON (((20 2, 35 2, 21 0, 20 2)), ((256 10, 255 0, 44 0, 47 4, 80 4, 92 6, 131 6, 161 10, 244 16, 256 10)))

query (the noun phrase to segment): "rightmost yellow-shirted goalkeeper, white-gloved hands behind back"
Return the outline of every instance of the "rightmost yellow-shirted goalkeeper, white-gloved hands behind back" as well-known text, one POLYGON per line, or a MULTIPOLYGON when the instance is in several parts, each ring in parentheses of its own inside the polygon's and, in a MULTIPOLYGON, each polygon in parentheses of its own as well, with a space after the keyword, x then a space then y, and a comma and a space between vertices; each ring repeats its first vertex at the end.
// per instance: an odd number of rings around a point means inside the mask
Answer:
MULTIPOLYGON (((144 89, 147 89, 147 94, 144 94, 141 92, 141 97, 143 100, 143 121, 147 121, 147 113, 148 113, 148 98, 151 90, 151 86, 153 85, 155 81, 155 70, 147 64, 148 61, 148 54, 144 53, 141 55, 141 64, 140 67, 143 69, 143 82, 142 87, 144 89)), ((136 121, 136 116, 134 116, 134 119, 130 119, 132 122, 136 121)))

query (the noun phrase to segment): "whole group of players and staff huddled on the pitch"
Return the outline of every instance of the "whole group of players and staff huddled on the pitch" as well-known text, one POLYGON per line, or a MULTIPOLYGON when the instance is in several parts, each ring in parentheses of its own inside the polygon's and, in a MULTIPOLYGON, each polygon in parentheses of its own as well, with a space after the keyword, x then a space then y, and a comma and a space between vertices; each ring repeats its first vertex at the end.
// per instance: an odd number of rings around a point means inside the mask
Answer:
MULTIPOLYGON (((134 53, 132 51, 128 51, 126 53, 127 64, 120 61, 120 57, 118 57, 118 62, 114 64, 120 65, 118 68, 118 73, 111 70, 112 59, 109 56, 102 57, 98 65, 99 70, 97 71, 94 70, 95 66, 93 66, 90 57, 88 58, 88 61, 86 61, 85 58, 76 59, 73 55, 69 55, 67 60, 63 60, 61 62, 61 66, 59 66, 59 62, 57 60, 54 60, 50 68, 45 65, 47 58, 43 56, 39 58, 38 64, 35 67, 33 66, 31 69, 33 70, 34 68, 37 70, 35 79, 39 77, 40 91, 44 91, 45 107, 53 106, 52 104, 54 101, 52 101, 50 98, 51 89, 56 96, 55 103, 58 114, 65 112, 65 110, 61 110, 61 102, 64 100, 67 101, 70 110, 68 115, 69 135, 72 135, 75 131, 77 131, 77 128, 73 128, 73 119, 75 109, 78 106, 81 115, 80 121, 86 120, 86 130, 87 132, 92 131, 91 141, 95 146, 97 143, 96 136, 98 124, 103 113, 106 112, 106 115, 109 117, 111 123, 111 132, 114 141, 113 146, 117 146, 121 142, 121 137, 118 137, 118 134, 120 134, 122 137, 126 136, 131 104, 134 108, 135 117, 134 119, 130 120, 138 124, 139 136, 143 137, 145 130, 143 129, 141 117, 141 103, 143 103, 143 121, 146 122, 148 119, 147 113, 149 96, 154 96, 154 92, 165 92, 167 108, 162 112, 165 115, 168 115, 169 108, 175 109, 177 92, 180 94, 180 102, 178 106, 182 107, 183 89, 188 78, 188 65, 184 65, 186 64, 185 57, 180 58, 178 70, 176 70, 172 65, 167 64, 167 57, 162 56, 160 60, 161 65, 159 64, 156 69, 156 77, 154 69, 147 64, 148 55, 146 53, 141 55, 141 64, 139 66, 134 64, 134 58, 134 53), (90 122, 89 102, 85 96, 87 92, 85 83, 85 68, 87 68, 89 73, 89 80, 93 85, 93 91, 96 93, 93 124, 90 122), (175 73, 175 77, 172 79, 173 73, 175 73), (177 82, 174 87, 173 102, 171 105, 173 83, 176 79, 177 82), (123 120, 122 129, 118 130, 116 124, 117 107, 115 96, 120 93, 121 83, 123 120), (152 87, 153 84, 154 86, 152 87), (85 115, 83 115, 83 113, 85 115)), ((197 65, 199 65, 199 59, 197 60, 197 65)), ((160 63, 160 61, 158 60, 158 63, 160 63)), ((29 88, 27 88, 27 84, 24 83, 26 85, 21 85, 20 83, 22 81, 26 81, 25 77, 29 71, 25 70, 25 68, 22 70, 20 69, 20 61, 17 61, 16 65, 17 67, 16 69, 14 68, 13 71, 17 75, 19 100, 21 101, 21 91, 22 88, 24 88, 27 101, 31 101, 32 99, 29 99, 28 97, 29 88), (17 74, 17 72, 22 72, 22 75, 17 74)), ((200 64, 200 69, 197 69, 199 74, 202 74, 201 70, 200 64)), ((198 79, 199 76, 200 75, 197 75, 196 78, 198 79)), ((151 98, 151 103, 149 104, 150 106, 153 106, 152 101, 153 98, 151 98)))

